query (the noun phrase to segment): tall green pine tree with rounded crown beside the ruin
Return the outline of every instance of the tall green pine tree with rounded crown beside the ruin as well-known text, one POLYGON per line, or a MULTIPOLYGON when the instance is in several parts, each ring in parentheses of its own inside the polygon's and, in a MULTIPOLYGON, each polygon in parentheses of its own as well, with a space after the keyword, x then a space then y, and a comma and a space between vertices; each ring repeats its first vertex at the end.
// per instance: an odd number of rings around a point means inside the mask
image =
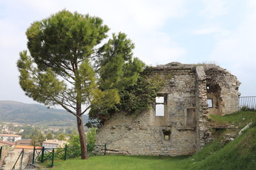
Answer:
POLYGON ((102 43, 109 29, 101 18, 60 11, 31 24, 26 31, 30 55, 21 52, 17 62, 27 96, 75 116, 82 159, 87 159, 82 115, 92 105, 119 103, 118 89, 134 84, 144 65, 132 58, 134 44, 124 33, 102 43))

